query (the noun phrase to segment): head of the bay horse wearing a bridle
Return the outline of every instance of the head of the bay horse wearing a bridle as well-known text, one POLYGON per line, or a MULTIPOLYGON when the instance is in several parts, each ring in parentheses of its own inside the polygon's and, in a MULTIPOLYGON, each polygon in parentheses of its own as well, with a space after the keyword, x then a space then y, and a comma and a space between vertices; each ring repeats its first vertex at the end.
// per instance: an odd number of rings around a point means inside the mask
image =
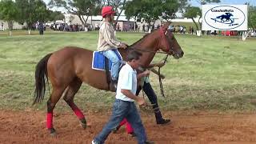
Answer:
POLYGON ((166 22, 166 24, 159 29, 161 35, 159 49, 173 55, 174 58, 182 58, 184 52, 181 46, 179 46, 176 38, 174 38, 174 34, 168 30, 169 25, 170 22, 166 22))

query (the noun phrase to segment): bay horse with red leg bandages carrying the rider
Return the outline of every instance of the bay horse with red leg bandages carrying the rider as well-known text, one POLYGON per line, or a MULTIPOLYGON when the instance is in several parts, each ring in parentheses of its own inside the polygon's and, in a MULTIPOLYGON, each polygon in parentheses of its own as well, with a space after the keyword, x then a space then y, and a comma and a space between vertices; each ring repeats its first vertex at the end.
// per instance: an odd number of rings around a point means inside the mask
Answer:
MULTIPOLYGON (((169 25, 170 23, 166 23, 128 48, 119 49, 122 58, 126 61, 129 50, 138 50, 142 53, 140 61, 143 68, 149 66, 158 50, 171 54, 174 58, 182 58, 184 53, 174 38, 174 34, 167 30, 169 25)), ((105 71, 91 68, 92 58, 93 51, 91 50, 67 46, 47 54, 38 62, 35 70, 34 103, 43 101, 46 81, 48 82, 49 78, 53 90, 47 101, 46 126, 51 135, 56 134, 53 126, 54 107, 63 93, 63 99, 77 115, 81 126, 86 128, 86 118, 74 104, 74 95, 78 92, 82 82, 99 90, 109 90, 105 71)))

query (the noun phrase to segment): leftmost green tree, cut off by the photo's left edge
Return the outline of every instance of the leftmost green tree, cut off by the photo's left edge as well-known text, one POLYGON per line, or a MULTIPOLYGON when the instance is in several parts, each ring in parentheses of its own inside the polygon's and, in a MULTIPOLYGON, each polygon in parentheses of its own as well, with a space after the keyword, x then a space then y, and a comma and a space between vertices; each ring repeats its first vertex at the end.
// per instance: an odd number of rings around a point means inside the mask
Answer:
POLYGON ((8 23, 9 35, 11 35, 11 30, 13 30, 17 14, 17 6, 12 0, 0 1, 0 18, 8 23))

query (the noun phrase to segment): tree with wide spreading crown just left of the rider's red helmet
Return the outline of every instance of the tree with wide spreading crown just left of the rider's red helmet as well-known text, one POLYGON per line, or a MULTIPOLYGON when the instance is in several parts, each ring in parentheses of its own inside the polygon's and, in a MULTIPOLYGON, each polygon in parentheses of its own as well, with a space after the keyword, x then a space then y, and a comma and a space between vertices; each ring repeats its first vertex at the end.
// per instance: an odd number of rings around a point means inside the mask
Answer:
POLYGON ((97 15, 101 9, 100 0, 50 0, 48 5, 64 7, 70 14, 78 15, 82 24, 86 24, 89 16, 97 15))

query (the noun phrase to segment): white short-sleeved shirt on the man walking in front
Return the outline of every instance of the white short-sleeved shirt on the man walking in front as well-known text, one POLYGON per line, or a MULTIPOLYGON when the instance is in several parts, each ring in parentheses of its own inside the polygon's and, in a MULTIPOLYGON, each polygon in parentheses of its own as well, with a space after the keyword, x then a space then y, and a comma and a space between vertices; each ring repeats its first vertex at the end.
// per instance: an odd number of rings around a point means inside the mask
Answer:
POLYGON ((117 94, 115 98, 122 101, 134 102, 134 99, 126 97, 121 90, 130 90, 131 93, 136 94, 137 90, 137 72, 128 63, 122 66, 119 72, 117 94))

